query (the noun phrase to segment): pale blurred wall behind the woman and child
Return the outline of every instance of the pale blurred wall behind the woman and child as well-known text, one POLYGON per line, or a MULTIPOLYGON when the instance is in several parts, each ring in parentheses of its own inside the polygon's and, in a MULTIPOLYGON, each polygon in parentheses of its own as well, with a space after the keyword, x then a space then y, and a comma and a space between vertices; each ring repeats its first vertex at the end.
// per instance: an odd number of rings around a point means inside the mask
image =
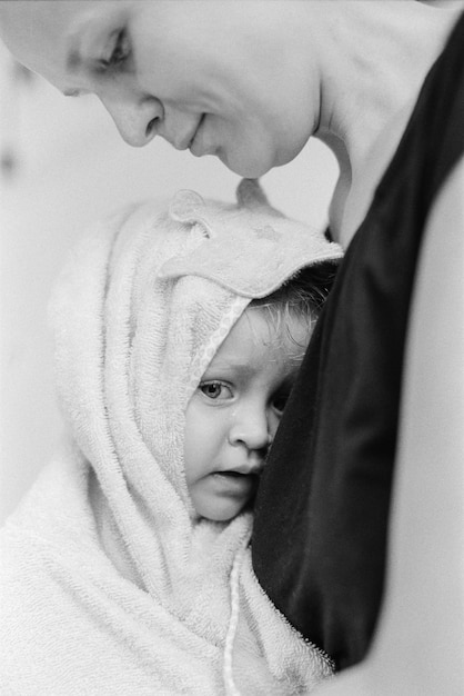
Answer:
MULTIPOLYGON (((62 424, 47 327, 50 288, 85 226, 115 207, 180 188, 231 200, 239 178, 208 157, 157 139, 132 149, 93 97, 63 98, 40 78, 12 81, 0 44, 0 149, 18 165, 0 181, 0 521, 50 458, 62 424)), ((262 179, 271 202, 323 226, 336 179, 331 152, 311 140, 262 179)))

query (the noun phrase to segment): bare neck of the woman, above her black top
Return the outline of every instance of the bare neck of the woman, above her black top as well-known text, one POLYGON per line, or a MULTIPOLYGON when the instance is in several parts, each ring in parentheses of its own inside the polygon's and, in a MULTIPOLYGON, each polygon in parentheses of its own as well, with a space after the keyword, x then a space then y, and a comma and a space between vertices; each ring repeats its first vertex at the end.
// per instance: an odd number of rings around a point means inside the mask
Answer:
POLYGON ((456 11, 415 0, 346 0, 321 8, 319 20, 325 29, 314 50, 322 57, 324 83, 314 135, 339 160, 330 218, 344 247, 367 212, 425 76, 456 19, 456 11))

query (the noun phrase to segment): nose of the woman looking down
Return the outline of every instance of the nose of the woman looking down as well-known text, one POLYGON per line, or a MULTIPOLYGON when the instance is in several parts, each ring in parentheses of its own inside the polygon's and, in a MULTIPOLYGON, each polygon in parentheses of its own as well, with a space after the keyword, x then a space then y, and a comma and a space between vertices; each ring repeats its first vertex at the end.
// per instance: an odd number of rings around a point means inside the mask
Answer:
POLYGON ((163 107, 154 97, 125 101, 100 97, 121 137, 129 145, 141 148, 157 135, 157 123, 164 117, 163 107))

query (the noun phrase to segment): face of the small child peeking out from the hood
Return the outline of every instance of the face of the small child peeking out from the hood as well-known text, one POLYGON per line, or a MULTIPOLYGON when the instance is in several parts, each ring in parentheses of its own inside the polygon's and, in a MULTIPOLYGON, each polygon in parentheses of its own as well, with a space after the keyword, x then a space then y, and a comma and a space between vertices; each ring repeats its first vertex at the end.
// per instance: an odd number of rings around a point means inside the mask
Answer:
POLYGON ((307 321, 278 330, 251 308, 220 346, 185 414, 186 484, 201 517, 228 521, 253 499, 309 338, 307 321))

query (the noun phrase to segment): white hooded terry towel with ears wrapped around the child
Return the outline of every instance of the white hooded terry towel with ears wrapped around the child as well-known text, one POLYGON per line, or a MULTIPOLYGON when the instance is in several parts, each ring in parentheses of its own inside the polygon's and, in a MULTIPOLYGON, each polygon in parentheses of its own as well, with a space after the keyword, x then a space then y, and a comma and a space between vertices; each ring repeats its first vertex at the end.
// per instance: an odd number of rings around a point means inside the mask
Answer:
POLYGON ((244 180, 90 230, 50 316, 69 441, 1 535, 0 692, 307 694, 331 674, 260 588, 252 515, 198 519, 184 410, 250 298, 340 248, 244 180))

